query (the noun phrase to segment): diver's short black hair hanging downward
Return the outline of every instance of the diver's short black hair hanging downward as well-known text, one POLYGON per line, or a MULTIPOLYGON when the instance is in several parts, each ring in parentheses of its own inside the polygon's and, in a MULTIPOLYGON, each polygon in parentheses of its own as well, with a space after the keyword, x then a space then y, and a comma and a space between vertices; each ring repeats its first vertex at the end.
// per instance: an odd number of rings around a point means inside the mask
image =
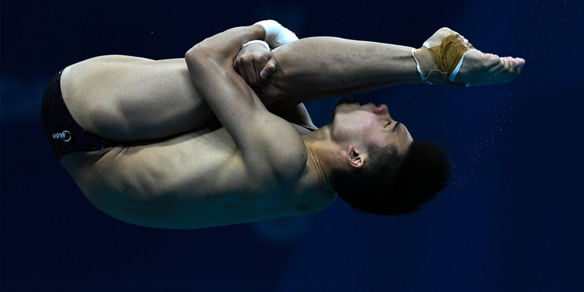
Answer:
POLYGON ((357 212, 411 214, 448 186, 450 160, 439 142, 413 141, 402 155, 393 145, 368 151, 363 168, 332 172, 335 192, 357 212))

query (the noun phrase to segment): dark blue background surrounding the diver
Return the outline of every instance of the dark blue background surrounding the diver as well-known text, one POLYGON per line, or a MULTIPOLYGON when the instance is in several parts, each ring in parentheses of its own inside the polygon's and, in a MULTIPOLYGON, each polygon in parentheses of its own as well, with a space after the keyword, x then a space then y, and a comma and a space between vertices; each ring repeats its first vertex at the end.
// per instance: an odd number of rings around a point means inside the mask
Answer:
MULTIPOLYGON (((2 291, 582 291, 584 126, 578 1, 2 1, 2 291), (55 161, 40 99, 65 65, 182 57, 234 26, 419 47, 442 26, 527 60, 509 84, 404 85, 387 103, 416 139, 449 145, 453 185, 420 213, 205 230, 100 213, 55 161)), ((318 126, 336 99, 308 105, 318 126)))

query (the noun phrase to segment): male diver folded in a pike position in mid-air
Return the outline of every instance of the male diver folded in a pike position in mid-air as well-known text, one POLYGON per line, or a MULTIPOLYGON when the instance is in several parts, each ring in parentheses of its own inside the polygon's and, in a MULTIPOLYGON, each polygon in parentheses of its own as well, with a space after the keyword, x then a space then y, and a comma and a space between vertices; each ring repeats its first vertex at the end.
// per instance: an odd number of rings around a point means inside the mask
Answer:
POLYGON ((70 65, 43 98, 48 140, 89 201, 132 224, 272 220, 318 212, 337 194, 363 213, 408 214, 447 186, 443 148, 413 141, 385 105, 343 99, 317 129, 301 102, 406 82, 508 82, 525 62, 481 53, 447 28, 419 49, 294 40, 265 20, 185 58, 70 65))

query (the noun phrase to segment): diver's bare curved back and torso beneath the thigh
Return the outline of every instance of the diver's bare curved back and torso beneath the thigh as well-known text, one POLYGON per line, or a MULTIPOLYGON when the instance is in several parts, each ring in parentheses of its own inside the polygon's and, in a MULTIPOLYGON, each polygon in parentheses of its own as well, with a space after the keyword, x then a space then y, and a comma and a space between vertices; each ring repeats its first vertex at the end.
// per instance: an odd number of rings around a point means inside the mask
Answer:
POLYGON ((100 210, 151 227, 204 228, 311 214, 335 197, 301 192, 296 178, 269 172, 253 177, 218 124, 166 140, 73 152, 61 163, 100 210))

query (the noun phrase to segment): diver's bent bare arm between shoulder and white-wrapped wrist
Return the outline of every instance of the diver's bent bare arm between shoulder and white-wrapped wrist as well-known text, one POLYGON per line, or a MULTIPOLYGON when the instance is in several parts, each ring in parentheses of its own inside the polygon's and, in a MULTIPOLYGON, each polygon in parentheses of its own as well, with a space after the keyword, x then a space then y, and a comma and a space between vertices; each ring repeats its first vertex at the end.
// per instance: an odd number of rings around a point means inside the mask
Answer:
POLYGON ((235 72, 233 61, 242 44, 263 38, 263 34, 261 26, 236 27, 202 41, 185 54, 195 91, 246 153, 244 159, 251 159, 248 161, 258 158, 252 153, 258 141, 263 141, 258 137, 271 133, 258 129, 265 129, 264 124, 273 122, 275 116, 235 72))

